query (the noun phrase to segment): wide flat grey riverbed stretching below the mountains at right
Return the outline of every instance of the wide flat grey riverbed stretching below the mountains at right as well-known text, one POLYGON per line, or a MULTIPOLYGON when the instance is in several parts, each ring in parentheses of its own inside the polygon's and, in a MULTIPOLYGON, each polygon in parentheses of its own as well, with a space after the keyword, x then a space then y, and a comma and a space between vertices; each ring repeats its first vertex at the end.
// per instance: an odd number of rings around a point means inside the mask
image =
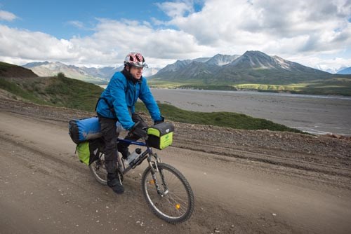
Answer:
POLYGON ((316 135, 351 135, 351 97, 180 89, 152 94, 180 109, 244 113, 316 135))

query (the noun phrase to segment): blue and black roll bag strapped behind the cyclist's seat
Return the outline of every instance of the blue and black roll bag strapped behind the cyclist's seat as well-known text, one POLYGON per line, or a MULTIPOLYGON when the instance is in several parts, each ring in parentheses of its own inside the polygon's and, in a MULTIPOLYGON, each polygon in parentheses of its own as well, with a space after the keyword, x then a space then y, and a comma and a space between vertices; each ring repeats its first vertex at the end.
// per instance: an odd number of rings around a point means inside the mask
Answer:
POLYGON ((69 136, 75 144, 102 136, 98 117, 71 120, 68 128, 69 136))

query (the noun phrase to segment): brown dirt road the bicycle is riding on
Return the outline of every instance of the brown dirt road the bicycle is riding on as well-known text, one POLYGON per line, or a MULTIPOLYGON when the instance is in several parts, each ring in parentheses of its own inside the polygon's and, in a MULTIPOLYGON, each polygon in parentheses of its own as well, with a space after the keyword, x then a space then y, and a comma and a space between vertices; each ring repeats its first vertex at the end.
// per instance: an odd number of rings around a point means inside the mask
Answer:
MULTIPOLYGON (((207 141, 204 146, 199 129, 192 142, 179 137, 176 142, 184 144, 176 143, 159 155, 185 174, 196 207, 189 221, 171 225, 154 216, 142 197, 140 173, 145 165, 126 175, 123 195, 94 181, 74 156, 63 113, 84 114, 2 100, 1 234, 351 233, 349 141, 301 135, 279 135, 277 140, 277 133, 256 132, 270 136, 274 144, 286 139, 282 151, 238 137, 246 133, 253 140, 253 132, 237 132, 236 145, 228 139, 223 145, 207 141), (307 144, 300 149, 307 153, 289 150, 294 137, 307 144), (313 149, 321 142, 324 149, 313 149)), ((178 125, 178 134, 195 127, 178 125)), ((227 131, 222 129, 222 135, 227 131)))

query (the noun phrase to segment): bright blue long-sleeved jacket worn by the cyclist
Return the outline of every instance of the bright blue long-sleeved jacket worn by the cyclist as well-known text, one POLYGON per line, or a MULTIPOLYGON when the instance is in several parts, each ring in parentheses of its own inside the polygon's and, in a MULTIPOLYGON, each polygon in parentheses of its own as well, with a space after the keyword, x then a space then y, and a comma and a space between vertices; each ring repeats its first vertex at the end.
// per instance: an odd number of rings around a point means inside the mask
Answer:
MULTIPOLYGON (((133 81, 128 80, 121 71, 118 71, 112 76, 110 83, 102 92, 101 97, 107 99, 110 106, 113 106, 119 123, 121 123, 126 130, 131 130, 134 125, 128 108, 131 110, 131 113, 134 113, 135 103, 138 98, 144 102, 153 121, 160 121, 162 118, 159 106, 157 106, 154 97, 152 97, 149 86, 147 86, 147 81, 143 77, 140 78, 140 83, 133 83, 133 81)), ((110 111, 110 107, 105 102, 105 99, 99 100, 96 112, 105 118, 116 118, 114 113, 110 111)))

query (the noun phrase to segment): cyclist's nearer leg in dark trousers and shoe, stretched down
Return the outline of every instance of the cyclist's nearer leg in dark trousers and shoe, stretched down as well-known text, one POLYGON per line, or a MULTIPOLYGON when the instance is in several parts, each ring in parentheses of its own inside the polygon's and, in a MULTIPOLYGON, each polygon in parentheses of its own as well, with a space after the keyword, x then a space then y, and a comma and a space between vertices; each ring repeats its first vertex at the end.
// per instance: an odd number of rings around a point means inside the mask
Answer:
POLYGON ((117 120, 99 117, 102 137, 105 141, 105 167, 107 170, 107 186, 115 193, 123 193, 124 187, 117 174, 117 120))

